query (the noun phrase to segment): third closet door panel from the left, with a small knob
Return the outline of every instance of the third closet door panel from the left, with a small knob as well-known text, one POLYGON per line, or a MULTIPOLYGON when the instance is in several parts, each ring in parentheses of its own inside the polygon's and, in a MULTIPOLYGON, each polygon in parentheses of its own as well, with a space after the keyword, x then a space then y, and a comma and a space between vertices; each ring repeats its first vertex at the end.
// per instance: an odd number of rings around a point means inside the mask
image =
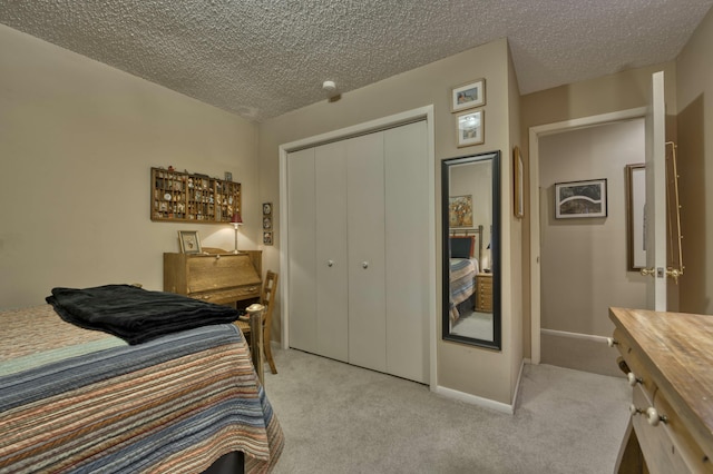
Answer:
POLYGON ((346 140, 349 362, 385 371, 383 132, 346 140))

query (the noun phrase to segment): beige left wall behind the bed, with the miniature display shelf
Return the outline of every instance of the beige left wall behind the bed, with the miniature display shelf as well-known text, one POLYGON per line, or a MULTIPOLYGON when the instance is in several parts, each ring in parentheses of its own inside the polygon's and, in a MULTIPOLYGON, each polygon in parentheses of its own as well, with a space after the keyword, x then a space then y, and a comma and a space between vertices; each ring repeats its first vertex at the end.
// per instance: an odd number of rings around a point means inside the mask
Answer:
POLYGON ((178 229, 233 248, 229 226, 149 220, 152 166, 232 171, 255 248, 255 125, 1 24, 0 45, 0 309, 55 286, 162 289, 178 229))

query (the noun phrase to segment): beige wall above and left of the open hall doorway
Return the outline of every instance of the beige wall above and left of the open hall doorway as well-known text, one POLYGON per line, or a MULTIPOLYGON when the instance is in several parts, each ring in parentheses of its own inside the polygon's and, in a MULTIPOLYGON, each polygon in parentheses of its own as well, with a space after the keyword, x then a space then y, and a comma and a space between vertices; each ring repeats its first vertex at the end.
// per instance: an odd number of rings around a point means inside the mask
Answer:
MULTIPOLYGON (((651 88, 652 75, 663 70, 665 73, 665 100, 667 110, 671 113, 676 108, 676 69, 675 63, 666 62, 645 68, 631 69, 602 78, 572 83, 529 93, 520 98, 521 117, 521 148, 525 160, 525 172, 529 176, 529 142, 528 135, 531 127, 557 124, 566 120, 590 117, 621 110, 628 110, 645 107, 648 102, 648 91, 651 88)), ((675 120, 673 116, 667 117, 666 134, 675 137, 675 120)), ((538 172, 538 170, 535 170, 538 172)), ((527 203, 525 208, 529 208, 529 182, 525 182, 525 196, 527 203)), ((530 356, 531 332, 530 332, 530 295, 529 295, 529 233, 530 219, 539 216, 526 214, 522 227, 524 244, 524 353, 530 356)), ((606 296, 608 298, 608 296, 606 296)), ((574 316, 576 317, 576 316, 574 316)))

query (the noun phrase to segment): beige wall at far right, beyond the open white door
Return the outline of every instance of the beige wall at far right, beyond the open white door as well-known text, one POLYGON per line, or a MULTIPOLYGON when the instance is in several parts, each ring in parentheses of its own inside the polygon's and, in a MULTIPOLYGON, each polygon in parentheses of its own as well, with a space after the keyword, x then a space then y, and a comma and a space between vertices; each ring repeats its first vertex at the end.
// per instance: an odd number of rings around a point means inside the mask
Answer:
POLYGON ((681 310, 713 315, 713 10, 676 60, 681 227, 681 310))

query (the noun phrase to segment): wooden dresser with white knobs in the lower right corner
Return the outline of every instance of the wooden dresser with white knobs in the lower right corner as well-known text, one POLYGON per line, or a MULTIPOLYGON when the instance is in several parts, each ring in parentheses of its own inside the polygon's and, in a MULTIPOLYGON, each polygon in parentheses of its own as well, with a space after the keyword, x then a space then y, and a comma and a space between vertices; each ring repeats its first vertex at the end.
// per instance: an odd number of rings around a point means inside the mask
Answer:
POLYGON ((713 316, 611 308, 633 387, 621 473, 713 473, 713 316))

